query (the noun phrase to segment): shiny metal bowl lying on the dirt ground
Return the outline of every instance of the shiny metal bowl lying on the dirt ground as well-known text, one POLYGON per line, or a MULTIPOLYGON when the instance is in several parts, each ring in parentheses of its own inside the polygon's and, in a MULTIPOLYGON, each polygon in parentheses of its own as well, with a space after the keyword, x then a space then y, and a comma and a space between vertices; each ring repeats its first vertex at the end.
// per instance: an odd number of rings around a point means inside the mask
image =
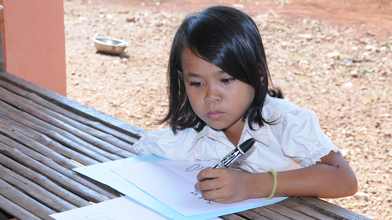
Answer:
POLYGON ((129 45, 129 43, 125 40, 98 36, 97 34, 95 34, 95 36, 93 37, 93 41, 95 48, 99 52, 104 52, 108 54, 122 54, 125 50, 125 47, 129 45))

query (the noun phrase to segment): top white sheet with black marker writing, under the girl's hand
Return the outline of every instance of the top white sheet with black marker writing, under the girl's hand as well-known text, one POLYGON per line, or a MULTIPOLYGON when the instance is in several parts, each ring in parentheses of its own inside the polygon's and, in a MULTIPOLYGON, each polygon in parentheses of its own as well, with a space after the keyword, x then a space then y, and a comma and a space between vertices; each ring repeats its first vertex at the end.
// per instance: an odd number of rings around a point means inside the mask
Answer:
POLYGON ((264 198, 249 199, 232 204, 220 204, 205 200, 200 191, 196 191, 194 184, 198 182, 196 176, 200 170, 214 164, 211 161, 200 160, 162 160, 159 162, 139 162, 111 170, 184 216, 267 202, 264 198))

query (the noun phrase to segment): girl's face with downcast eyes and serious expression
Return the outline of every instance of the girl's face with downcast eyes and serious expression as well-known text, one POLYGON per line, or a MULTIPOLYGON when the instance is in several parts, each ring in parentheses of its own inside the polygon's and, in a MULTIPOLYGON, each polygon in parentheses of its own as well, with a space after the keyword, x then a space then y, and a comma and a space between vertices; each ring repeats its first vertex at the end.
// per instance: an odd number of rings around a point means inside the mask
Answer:
POLYGON ((196 115, 226 134, 242 132, 242 117, 253 100, 254 89, 189 50, 183 52, 181 64, 187 96, 196 115))

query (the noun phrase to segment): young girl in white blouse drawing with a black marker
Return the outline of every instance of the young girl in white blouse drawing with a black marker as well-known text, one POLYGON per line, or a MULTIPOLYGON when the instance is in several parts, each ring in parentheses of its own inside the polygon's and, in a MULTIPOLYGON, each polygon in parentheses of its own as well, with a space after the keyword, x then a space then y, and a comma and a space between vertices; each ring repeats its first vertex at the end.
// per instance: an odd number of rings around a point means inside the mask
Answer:
POLYGON ((168 92, 169 112, 161 123, 171 128, 144 135, 133 145, 135 153, 219 161, 256 139, 234 163, 251 173, 200 171, 195 188, 205 199, 232 203, 356 193, 354 172, 316 114, 283 100, 273 87, 260 33, 247 14, 214 6, 187 16, 172 43, 168 92))

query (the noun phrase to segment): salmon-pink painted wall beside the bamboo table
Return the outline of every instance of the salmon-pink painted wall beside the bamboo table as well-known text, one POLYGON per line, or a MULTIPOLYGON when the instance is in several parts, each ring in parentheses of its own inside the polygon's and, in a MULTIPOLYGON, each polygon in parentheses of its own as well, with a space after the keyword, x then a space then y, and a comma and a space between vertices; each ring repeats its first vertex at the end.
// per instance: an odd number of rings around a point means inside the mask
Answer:
POLYGON ((66 96, 63 1, 0 0, 0 4, 5 71, 66 96))

